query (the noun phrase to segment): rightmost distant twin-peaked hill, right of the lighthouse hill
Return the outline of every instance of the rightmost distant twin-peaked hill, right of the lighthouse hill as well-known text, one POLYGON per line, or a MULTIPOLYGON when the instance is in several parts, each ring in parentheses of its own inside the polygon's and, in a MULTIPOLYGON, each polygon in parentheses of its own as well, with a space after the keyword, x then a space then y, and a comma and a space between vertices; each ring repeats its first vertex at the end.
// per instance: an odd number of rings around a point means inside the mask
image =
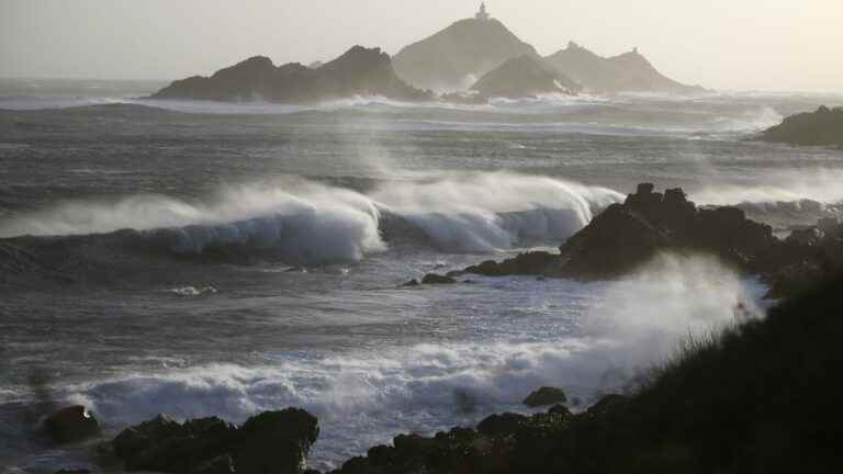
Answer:
POLYGON ((544 59, 592 92, 705 92, 665 77, 637 48, 605 58, 572 42, 544 59))

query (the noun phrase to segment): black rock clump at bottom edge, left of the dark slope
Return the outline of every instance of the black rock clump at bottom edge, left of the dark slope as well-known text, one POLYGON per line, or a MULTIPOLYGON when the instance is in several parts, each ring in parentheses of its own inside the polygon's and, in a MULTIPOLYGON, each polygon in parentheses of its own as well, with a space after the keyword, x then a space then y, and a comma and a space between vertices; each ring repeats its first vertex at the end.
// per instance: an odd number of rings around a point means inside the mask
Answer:
POLYGON ((260 414, 241 427, 216 417, 179 424, 159 415, 125 429, 112 444, 127 471, 299 474, 318 435, 313 415, 288 408, 260 414))

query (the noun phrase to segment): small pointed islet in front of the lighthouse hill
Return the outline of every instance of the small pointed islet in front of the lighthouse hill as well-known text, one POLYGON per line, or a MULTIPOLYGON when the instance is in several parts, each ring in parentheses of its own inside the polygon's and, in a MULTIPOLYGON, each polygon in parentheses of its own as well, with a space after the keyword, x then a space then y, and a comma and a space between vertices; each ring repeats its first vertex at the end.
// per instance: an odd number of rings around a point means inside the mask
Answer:
POLYGON ((580 89, 571 78, 530 55, 508 59, 471 87, 481 97, 510 99, 546 93, 575 94, 580 89))

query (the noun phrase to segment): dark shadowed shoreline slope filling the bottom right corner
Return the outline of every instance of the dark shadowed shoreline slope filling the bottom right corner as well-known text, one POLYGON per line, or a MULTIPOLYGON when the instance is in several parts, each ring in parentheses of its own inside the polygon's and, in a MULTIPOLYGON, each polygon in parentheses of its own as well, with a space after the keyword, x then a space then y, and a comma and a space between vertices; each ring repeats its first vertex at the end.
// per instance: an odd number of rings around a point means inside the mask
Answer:
POLYGON ((339 474, 840 472, 843 273, 587 410, 402 435, 339 474))

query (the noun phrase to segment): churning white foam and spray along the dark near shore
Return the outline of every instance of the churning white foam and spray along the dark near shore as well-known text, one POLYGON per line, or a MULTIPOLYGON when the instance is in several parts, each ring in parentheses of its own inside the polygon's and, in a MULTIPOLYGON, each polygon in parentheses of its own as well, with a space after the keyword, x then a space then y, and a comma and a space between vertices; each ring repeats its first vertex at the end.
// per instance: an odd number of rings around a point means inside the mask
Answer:
MULTIPOLYGON (((524 410, 520 400, 540 385, 593 399, 663 361, 688 335, 762 313, 754 284, 700 257, 660 256, 637 275, 591 289, 600 303, 583 314, 580 331, 282 352, 260 366, 212 364, 79 385, 69 399, 92 406, 115 428, 159 411, 241 421, 300 406, 323 426, 314 459, 336 462, 400 432, 429 433, 494 411, 524 410)), ((525 317, 519 325, 530 323, 525 317)))

